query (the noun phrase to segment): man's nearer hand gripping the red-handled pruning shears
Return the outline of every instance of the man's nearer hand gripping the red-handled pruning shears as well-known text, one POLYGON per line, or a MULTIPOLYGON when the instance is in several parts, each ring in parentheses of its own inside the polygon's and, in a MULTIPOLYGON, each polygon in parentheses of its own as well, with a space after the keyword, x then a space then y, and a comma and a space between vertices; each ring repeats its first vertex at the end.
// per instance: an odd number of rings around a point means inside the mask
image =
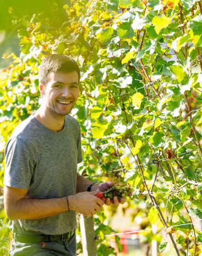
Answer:
POLYGON ((96 211, 101 211, 104 202, 95 195, 96 192, 92 191, 68 196, 70 210, 86 216, 95 214, 96 211))

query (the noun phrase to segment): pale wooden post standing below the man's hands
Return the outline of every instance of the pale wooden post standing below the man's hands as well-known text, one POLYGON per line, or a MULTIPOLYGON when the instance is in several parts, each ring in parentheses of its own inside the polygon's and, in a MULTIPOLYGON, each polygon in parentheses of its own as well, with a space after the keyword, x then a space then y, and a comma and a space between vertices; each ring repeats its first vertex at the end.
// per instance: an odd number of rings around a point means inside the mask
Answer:
POLYGON ((81 243, 83 256, 96 256, 96 243, 93 217, 80 215, 81 243))

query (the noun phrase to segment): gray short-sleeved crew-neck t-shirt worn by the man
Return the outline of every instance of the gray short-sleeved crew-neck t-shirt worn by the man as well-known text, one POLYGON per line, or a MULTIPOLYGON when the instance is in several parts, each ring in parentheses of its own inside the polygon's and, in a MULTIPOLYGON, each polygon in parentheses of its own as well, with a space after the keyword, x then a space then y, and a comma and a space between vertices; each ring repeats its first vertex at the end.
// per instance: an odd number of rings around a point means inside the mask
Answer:
MULTIPOLYGON (((32 198, 76 193, 77 164, 82 161, 78 121, 65 116, 63 130, 54 132, 31 115, 13 131, 5 147, 4 185, 29 189, 32 198)), ((12 221, 14 231, 59 235, 77 227, 76 213, 67 211, 36 220, 12 221)))

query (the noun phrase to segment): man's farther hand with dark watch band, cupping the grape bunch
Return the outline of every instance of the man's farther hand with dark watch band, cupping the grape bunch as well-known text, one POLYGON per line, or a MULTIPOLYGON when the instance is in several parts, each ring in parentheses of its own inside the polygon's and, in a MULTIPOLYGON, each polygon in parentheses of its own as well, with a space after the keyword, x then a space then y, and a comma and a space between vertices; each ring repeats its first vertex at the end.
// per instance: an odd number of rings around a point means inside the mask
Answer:
MULTIPOLYGON (((102 183, 96 183, 94 186, 92 186, 92 189, 95 191, 105 191, 105 190, 107 190, 107 189, 109 189, 109 188, 111 188, 111 187, 113 187, 114 186, 114 182, 112 182, 112 181, 106 181, 106 182, 102 182, 102 183)), ((120 199, 120 202, 119 202, 119 199, 117 198, 117 196, 114 196, 114 198, 112 199, 112 201, 111 201, 111 199, 108 197, 108 198, 106 198, 106 202, 105 202, 105 204, 106 205, 111 205, 111 203, 113 203, 114 205, 119 205, 119 203, 120 204, 124 204, 124 202, 125 202, 125 198, 121 198, 120 199)))

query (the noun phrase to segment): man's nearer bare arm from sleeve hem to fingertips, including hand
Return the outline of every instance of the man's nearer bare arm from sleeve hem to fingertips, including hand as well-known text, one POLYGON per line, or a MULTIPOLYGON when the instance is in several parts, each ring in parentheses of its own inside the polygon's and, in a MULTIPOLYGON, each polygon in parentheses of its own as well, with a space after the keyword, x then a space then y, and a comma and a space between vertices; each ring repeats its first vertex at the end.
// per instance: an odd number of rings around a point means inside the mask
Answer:
POLYGON ((103 201, 94 192, 83 192, 66 197, 37 199, 26 197, 28 189, 4 187, 4 208, 11 220, 35 220, 51 217, 68 210, 84 215, 95 214, 102 210, 103 201))

